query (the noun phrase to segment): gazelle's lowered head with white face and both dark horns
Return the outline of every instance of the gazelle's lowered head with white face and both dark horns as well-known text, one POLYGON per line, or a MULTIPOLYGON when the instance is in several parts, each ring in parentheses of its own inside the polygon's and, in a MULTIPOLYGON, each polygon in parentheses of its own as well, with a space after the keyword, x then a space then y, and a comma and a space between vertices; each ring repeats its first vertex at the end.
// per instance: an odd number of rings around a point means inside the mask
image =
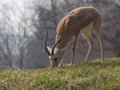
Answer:
POLYGON ((63 53, 64 50, 58 49, 56 48, 56 45, 59 44, 60 40, 59 39, 54 45, 53 48, 50 48, 49 46, 47 46, 46 42, 47 42, 47 37, 48 37, 48 33, 46 35, 46 38, 44 40, 44 46, 45 46, 45 51, 47 52, 48 56, 49 56, 49 60, 51 63, 52 67, 57 67, 58 64, 60 63, 61 58, 63 57, 63 53))

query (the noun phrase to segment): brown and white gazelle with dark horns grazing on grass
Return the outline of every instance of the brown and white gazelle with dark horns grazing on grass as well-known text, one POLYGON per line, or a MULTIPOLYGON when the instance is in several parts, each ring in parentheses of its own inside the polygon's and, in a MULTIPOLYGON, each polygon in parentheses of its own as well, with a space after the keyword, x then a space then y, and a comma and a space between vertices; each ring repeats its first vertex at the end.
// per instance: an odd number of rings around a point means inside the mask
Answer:
POLYGON ((51 66, 62 66, 62 57, 64 55, 65 49, 71 41, 73 42, 71 65, 73 64, 75 48, 79 34, 82 34, 89 44, 89 49, 85 57, 85 61, 87 61, 91 47, 94 44, 91 38, 91 33, 94 33, 100 42, 101 60, 104 60, 103 42, 100 36, 101 23, 102 21, 99 12, 92 6, 78 7, 63 17, 57 26, 55 37, 56 42, 53 45, 53 48, 51 49, 46 45, 48 33, 44 40, 45 50, 49 55, 51 66))

